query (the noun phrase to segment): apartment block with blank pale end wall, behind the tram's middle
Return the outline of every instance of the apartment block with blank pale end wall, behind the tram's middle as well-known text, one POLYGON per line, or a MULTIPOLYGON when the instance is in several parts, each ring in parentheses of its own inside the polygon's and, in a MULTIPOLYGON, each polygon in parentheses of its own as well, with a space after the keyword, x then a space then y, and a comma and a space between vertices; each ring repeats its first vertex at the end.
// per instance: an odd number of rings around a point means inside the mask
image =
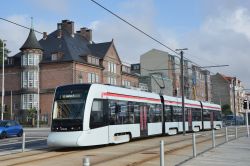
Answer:
MULTIPOLYGON (((149 91, 155 93, 161 91, 165 95, 181 97, 181 70, 178 56, 152 49, 141 55, 140 64, 133 64, 132 69, 132 72, 140 73, 139 82, 147 84, 149 91), (163 87, 161 90, 160 86, 163 87)), ((209 71, 184 60, 183 76, 186 98, 211 101, 209 71)))

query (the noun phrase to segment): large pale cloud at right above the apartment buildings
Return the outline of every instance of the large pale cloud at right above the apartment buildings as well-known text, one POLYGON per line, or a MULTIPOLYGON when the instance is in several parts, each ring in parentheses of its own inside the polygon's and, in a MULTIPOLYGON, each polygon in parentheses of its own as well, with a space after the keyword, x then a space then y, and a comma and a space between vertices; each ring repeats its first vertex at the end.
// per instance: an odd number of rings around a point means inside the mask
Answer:
MULTIPOLYGON (((196 62, 201 66, 228 64, 229 67, 209 69, 236 76, 250 87, 250 12, 247 8, 211 15, 200 29, 186 36, 196 62), (198 57, 198 58, 197 58, 198 57)), ((189 55, 192 58, 192 55, 189 55)))

